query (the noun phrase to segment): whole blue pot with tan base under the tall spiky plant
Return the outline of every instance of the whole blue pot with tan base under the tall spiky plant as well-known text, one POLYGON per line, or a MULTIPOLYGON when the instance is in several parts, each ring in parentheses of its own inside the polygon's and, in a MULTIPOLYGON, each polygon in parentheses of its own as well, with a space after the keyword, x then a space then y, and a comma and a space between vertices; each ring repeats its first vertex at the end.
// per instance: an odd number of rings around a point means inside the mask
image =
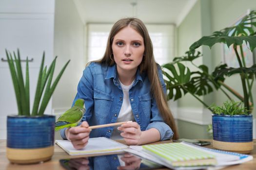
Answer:
POLYGON ((7 117, 7 158, 13 163, 36 163, 54 151, 55 116, 7 117))

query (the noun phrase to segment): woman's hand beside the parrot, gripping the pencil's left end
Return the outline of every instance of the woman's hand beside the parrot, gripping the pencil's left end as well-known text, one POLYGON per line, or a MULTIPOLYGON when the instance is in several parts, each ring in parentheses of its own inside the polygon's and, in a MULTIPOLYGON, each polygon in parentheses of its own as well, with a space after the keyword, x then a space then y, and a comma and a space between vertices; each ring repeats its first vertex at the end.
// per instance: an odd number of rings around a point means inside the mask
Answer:
POLYGON ((65 133, 67 139, 71 141, 75 149, 82 149, 88 143, 90 132, 89 124, 87 121, 83 121, 82 124, 77 127, 66 129, 65 133))

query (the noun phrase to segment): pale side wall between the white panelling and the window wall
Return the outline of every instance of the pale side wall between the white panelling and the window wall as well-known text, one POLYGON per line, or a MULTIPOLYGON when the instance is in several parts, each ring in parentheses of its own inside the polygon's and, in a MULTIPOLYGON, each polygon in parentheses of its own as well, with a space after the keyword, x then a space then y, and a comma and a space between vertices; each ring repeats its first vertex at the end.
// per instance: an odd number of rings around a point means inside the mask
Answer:
POLYGON ((86 65, 84 24, 73 0, 56 0, 54 27, 54 55, 58 56, 55 76, 71 60, 53 94, 53 109, 58 114, 70 108, 86 65))

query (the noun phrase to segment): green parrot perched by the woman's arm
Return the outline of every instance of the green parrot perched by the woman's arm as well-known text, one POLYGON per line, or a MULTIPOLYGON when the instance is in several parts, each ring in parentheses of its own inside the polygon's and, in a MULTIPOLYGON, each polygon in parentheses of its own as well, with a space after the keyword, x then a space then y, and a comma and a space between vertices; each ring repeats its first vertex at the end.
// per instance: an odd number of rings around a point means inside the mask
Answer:
POLYGON ((55 122, 55 131, 65 127, 74 127, 81 121, 85 109, 83 108, 84 100, 78 99, 74 106, 63 113, 55 122))

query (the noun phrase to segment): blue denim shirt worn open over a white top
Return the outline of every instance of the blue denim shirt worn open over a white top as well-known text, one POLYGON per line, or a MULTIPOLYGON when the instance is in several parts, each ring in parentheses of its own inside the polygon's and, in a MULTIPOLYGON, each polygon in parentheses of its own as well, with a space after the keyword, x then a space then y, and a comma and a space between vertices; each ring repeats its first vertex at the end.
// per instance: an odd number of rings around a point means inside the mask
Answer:
MULTIPOLYGON (((158 75, 162 88, 166 92, 160 67, 158 67, 158 75)), ((86 109, 81 121, 87 121, 90 126, 117 122, 123 92, 118 81, 116 65, 106 66, 92 62, 86 67, 79 81, 78 93, 73 105, 79 98, 84 100, 86 109)), ((160 140, 170 139, 173 136, 173 131, 159 113, 156 100, 152 98, 147 74, 140 74, 139 69, 135 82, 129 90, 129 100, 134 118, 140 125, 141 131, 156 128, 160 133, 160 140)), ((63 139, 66 139, 65 129, 60 130, 63 139)), ((110 138, 113 129, 114 127, 94 129, 90 137, 110 138)))

